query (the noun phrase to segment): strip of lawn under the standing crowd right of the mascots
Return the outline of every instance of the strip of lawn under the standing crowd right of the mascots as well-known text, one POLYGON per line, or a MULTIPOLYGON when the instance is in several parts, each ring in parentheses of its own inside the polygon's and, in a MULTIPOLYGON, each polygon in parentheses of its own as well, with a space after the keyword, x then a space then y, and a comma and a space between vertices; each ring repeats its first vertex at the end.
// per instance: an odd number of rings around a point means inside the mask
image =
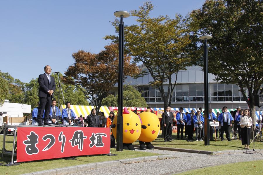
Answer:
MULTIPOLYGON (((231 134, 232 136, 232 134, 231 134)), ((227 141, 227 139, 224 139, 224 141, 221 141, 221 139, 217 139, 217 142, 215 141, 210 141, 209 146, 205 146, 205 141, 193 141, 193 142, 188 142, 187 137, 184 139, 185 140, 177 140, 177 133, 172 134, 172 138, 174 139, 171 142, 164 142, 164 139, 161 137, 161 133, 151 143, 154 146, 160 146, 160 147, 171 147, 171 148, 182 148, 182 149, 191 149, 191 150, 205 150, 205 151, 222 151, 222 150, 239 150, 243 149, 244 146, 241 145, 240 140, 234 140, 231 139, 232 141, 227 141)), ((195 138, 195 134, 194 137, 195 138)), ((133 144, 138 144, 139 141, 134 142, 133 144)), ((257 142, 255 141, 255 146, 256 149, 263 149, 263 142, 257 142)), ((250 144, 250 149, 253 148, 253 144, 250 144)))

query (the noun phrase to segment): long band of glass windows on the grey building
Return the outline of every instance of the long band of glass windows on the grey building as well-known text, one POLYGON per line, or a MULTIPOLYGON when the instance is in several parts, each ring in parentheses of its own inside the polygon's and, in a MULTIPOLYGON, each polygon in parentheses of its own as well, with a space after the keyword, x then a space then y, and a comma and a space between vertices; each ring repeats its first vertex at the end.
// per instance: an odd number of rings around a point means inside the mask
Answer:
MULTIPOLYGON (((148 85, 137 86, 146 102, 162 102, 158 88, 148 85)), ((168 90, 168 85, 164 85, 164 90, 168 90)), ((167 91, 166 91, 167 95, 167 91)), ((232 101, 244 102, 244 97, 239 91, 238 85, 234 84, 209 84, 209 100, 211 101, 232 101)), ((199 102, 204 101, 204 84, 180 84, 176 85, 172 93, 171 102, 199 102)))

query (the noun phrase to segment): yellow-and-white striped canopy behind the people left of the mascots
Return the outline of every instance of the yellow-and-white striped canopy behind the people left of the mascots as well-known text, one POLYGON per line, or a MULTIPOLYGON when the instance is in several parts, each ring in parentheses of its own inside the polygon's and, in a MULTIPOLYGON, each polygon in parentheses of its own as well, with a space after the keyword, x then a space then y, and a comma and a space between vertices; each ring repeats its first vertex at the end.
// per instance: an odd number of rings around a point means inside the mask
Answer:
MULTIPOLYGON (((66 105, 61 105, 60 106, 60 110, 61 111, 64 108, 66 108, 66 105)), ((91 109, 93 109, 93 108, 94 108, 94 106, 70 105, 70 109, 73 110, 73 112, 75 113, 75 115, 77 117, 82 115, 84 118, 86 118, 90 114, 91 109)), ((110 110, 109 110, 109 108, 107 106, 101 106, 100 111, 104 112, 104 115, 106 117, 109 116, 110 110)))

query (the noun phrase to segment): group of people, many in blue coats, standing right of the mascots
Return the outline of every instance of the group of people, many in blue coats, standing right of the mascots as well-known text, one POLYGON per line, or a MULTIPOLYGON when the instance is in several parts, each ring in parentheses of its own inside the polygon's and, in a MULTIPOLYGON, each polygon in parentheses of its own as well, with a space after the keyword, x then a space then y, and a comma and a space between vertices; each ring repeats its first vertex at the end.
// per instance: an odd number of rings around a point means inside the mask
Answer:
MULTIPOLYGON (((194 109, 191 113, 184 113, 184 108, 179 108, 179 112, 176 116, 171 112, 171 107, 167 106, 165 112, 162 114, 161 124, 163 126, 162 131, 164 132, 164 142, 172 141, 172 126, 177 124, 177 139, 184 140, 184 130, 185 137, 188 136, 188 141, 203 141, 204 139, 204 111, 199 108, 197 111, 194 109), (195 138, 193 135, 195 133, 195 138)), ((228 108, 224 106, 221 109, 222 113, 217 112, 215 115, 212 109, 208 109, 208 118, 210 122, 219 122, 219 126, 214 130, 213 126, 210 126, 210 141, 214 141, 215 137, 224 141, 225 137, 228 141, 231 141, 231 131, 233 133, 233 139, 239 139, 244 145, 245 149, 249 149, 250 145, 250 133, 252 126, 252 118, 248 109, 240 109, 240 106, 236 108, 235 111, 228 111, 228 108), (219 131, 219 135, 218 135, 219 131)), ((260 118, 262 120, 262 118, 260 118)), ((256 124, 257 127, 257 124, 256 124)))

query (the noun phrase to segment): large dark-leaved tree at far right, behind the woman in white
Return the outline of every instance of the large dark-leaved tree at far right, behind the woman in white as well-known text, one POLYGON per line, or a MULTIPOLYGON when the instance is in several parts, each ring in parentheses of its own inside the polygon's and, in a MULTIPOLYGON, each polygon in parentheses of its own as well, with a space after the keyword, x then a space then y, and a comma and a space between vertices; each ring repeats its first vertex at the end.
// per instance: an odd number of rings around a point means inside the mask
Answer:
POLYGON ((255 125, 254 95, 263 93, 263 1, 209 0, 190 18, 195 39, 213 36, 208 40, 209 72, 216 81, 240 86, 255 125))

